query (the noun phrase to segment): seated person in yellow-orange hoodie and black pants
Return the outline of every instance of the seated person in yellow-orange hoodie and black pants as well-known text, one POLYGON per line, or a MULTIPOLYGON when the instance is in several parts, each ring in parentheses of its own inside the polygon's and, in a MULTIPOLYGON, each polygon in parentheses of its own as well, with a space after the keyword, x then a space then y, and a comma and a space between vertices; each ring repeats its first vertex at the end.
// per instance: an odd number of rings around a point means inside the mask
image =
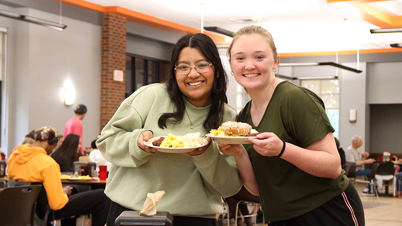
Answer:
POLYGON ((71 195, 70 186, 62 187, 60 166, 49 156, 59 139, 57 130, 46 126, 33 135, 34 143, 19 145, 9 158, 9 179, 25 182, 42 182, 49 206, 61 225, 75 225, 71 216, 92 214, 92 226, 106 223, 111 201, 103 189, 89 190, 71 195))

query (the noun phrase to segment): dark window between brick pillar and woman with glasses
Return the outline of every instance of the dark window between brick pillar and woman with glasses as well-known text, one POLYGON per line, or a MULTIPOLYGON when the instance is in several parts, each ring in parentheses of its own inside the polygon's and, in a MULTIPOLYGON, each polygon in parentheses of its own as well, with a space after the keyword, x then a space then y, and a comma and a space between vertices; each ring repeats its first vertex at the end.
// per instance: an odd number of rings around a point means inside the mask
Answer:
POLYGON ((168 74, 167 61, 126 56, 126 97, 143 85, 166 81, 168 74))

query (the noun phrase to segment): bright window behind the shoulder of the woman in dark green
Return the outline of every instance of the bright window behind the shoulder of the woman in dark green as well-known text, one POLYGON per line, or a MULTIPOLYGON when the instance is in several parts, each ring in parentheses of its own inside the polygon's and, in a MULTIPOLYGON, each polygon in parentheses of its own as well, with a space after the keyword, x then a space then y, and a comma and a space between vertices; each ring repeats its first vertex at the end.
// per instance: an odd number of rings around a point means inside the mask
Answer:
POLYGON ((300 86, 317 93, 325 104, 325 111, 334 127, 334 136, 339 138, 339 80, 338 79, 312 79, 301 80, 300 86))

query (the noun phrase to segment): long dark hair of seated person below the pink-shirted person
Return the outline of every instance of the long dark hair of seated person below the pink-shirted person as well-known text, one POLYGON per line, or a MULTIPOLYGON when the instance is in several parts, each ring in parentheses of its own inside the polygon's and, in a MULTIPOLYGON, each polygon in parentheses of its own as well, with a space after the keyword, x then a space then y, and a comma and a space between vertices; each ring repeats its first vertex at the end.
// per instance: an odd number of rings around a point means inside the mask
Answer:
POLYGON ((74 161, 78 161, 78 144, 79 136, 76 134, 69 134, 64 139, 60 148, 52 154, 52 158, 59 164, 61 172, 74 171, 72 164, 74 161))

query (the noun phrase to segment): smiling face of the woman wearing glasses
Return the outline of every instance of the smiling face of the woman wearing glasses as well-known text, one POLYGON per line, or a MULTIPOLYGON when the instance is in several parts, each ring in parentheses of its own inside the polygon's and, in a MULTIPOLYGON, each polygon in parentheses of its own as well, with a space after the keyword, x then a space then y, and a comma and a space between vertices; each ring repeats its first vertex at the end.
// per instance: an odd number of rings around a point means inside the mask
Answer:
MULTIPOLYGON (((180 51, 176 66, 180 64, 193 66, 200 62, 211 63, 198 49, 185 47, 180 51)), ((196 107, 207 106, 211 103, 210 96, 215 75, 214 65, 203 73, 198 73, 194 67, 191 67, 188 74, 175 73, 177 85, 188 102, 196 107)))

